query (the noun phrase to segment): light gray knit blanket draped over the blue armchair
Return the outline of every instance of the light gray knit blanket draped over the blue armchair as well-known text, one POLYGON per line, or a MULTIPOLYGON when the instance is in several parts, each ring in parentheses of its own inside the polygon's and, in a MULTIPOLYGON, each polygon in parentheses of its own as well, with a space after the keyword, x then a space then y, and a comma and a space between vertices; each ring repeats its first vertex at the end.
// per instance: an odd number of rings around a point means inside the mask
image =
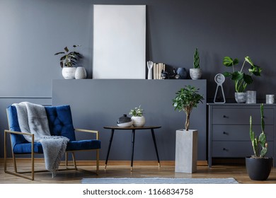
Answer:
MULTIPOLYGON (((34 134, 35 142, 42 144, 45 167, 51 171, 52 177, 54 177, 69 139, 64 136, 51 136, 44 106, 28 102, 13 105, 16 106, 21 132, 34 134)), ((24 137, 27 141, 32 141, 30 136, 24 135, 24 137)))

